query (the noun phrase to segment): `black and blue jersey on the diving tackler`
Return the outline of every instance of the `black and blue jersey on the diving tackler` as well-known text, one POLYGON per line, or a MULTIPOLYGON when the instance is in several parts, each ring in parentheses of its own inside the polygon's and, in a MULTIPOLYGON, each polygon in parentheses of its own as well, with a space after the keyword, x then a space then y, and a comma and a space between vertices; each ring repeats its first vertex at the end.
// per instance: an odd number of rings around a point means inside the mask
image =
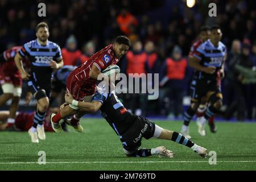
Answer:
POLYGON ((135 121, 136 115, 127 111, 114 93, 100 94, 96 92, 93 101, 102 103, 101 115, 108 121, 117 135, 122 135, 135 121))

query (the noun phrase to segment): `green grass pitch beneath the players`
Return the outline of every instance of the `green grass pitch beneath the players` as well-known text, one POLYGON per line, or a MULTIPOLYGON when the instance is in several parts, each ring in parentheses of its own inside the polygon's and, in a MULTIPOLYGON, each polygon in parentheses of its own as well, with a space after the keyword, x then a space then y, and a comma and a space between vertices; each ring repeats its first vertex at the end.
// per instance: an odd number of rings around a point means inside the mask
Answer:
MULTIPOLYGON (((165 129, 180 131, 182 122, 154 121, 165 129)), ((46 133, 46 140, 31 143, 27 132, 0 133, 0 170, 255 170, 256 123, 218 122, 216 134, 197 134, 191 122, 193 142, 216 151, 217 164, 200 158, 190 148, 171 140, 143 139, 143 148, 166 146, 174 158, 127 158, 122 143, 104 119, 86 118, 83 133, 46 133), (46 164, 38 164, 38 152, 46 152, 46 164)))

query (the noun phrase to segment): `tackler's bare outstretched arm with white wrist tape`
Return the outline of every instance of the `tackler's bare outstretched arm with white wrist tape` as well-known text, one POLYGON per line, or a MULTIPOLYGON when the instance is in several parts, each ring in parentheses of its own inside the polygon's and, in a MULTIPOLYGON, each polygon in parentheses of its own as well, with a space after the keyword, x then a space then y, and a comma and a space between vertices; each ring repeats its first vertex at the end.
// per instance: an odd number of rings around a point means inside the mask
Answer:
POLYGON ((96 112, 100 109, 102 103, 100 101, 92 101, 92 102, 79 102, 74 100, 73 96, 70 93, 65 94, 65 102, 68 104, 72 104, 74 106, 79 107, 84 111, 88 112, 96 112))

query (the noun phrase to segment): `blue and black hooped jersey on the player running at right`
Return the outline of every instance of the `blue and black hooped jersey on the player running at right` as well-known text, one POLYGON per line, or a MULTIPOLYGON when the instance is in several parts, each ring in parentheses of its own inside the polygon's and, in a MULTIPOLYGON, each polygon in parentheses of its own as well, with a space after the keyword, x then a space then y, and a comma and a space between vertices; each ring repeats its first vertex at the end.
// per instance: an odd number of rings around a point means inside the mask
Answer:
POLYGON ((210 39, 202 43, 197 47, 193 56, 200 59, 200 65, 204 67, 216 67, 214 74, 208 74, 205 72, 196 71, 195 76, 199 79, 202 78, 216 78, 218 69, 221 69, 224 57, 226 55, 226 46, 222 43, 218 43, 218 47, 213 46, 210 39))

